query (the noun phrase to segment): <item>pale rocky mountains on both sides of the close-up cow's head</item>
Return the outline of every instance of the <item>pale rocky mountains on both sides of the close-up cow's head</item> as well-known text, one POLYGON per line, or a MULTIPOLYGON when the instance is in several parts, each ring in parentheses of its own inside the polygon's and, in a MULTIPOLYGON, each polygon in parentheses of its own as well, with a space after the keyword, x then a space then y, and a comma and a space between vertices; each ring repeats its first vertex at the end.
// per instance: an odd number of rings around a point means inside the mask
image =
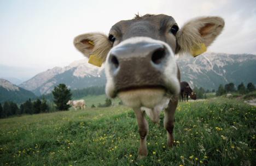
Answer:
MULTIPOLYGON (((256 56, 253 54, 205 53, 201 56, 177 59, 182 81, 191 87, 217 89, 219 84, 233 82, 256 83, 256 56)), ((41 72, 20 87, 36 95, 50 93, 53 88, 65 83, 68 88, 82 89, 102 86, 106 83, 103 67, 88 64, 88 59, 78 60, 66 67, 54 67, 41 72)))

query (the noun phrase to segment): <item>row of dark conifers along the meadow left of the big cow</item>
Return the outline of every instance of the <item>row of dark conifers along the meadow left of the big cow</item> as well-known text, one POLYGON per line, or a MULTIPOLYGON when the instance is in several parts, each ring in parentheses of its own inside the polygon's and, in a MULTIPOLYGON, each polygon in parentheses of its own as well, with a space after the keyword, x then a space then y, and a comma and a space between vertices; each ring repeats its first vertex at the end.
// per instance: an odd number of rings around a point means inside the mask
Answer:
MULTIPOLYGON (((72 100, 72 97, 80 98, 88 95, 101 95, 104 94, 104 91, 104 87, 89 87, 71 92, 71 89, 68 89, 65 84, 59 84, 54 87, 51 94, 43 95, 34 101, 28 99, 26 102, 20 104, 20 106, 13 101, 4 102, 3 106, 0 103, 0 118, 20 114, 38 114, 55 112, 57 110, 68 110, 71 106, 67 102, 72 100), (46 99, 48 102, 46 102, 46 99)), ((99 107, 108 107, 111 104, 111 100, 107 99, 106 103, 100 104, 99 107)))

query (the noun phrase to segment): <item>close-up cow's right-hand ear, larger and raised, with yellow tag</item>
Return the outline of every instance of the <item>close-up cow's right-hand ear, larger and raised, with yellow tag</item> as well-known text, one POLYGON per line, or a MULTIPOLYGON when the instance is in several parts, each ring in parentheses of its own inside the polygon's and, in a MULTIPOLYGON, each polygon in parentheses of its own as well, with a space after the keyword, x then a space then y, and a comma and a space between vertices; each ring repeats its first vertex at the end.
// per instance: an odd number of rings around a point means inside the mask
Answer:
POLYGON ((176 53, 191 53, 195 57, 205 52, 222 32, 224 24, 221 17, 199 17, 185 23, 176 35, 176 53))

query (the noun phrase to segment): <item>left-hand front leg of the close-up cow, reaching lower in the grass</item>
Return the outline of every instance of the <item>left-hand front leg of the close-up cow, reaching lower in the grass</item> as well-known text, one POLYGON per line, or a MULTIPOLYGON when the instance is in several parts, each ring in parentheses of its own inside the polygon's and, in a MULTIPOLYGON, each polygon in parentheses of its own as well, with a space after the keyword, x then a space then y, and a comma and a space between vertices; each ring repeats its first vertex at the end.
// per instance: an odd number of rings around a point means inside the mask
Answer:
POLYGON ((138 158, 142 159, 148 155, 147 149, 147 134, 148 134, 148 121, 145 117, 145 112, 142 111, 140 108, 134 109, 138 128, 139 128, 139 136, 141 140, 139 142, 139 149, 138 149, 138 158))

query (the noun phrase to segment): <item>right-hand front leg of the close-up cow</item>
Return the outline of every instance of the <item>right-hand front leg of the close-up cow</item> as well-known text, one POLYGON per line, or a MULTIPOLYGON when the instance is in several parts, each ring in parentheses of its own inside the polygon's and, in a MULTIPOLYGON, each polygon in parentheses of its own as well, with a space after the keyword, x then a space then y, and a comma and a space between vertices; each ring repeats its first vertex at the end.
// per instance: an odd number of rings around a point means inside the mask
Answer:
POLYGON ((178 98, 169 102, 168 107, 165 109, 165 119, 164 126, 167 130, 167 145, 172 147, 174 138, 173 138, 173 128, 174 128, 174 113, 178 105, 178 98))

